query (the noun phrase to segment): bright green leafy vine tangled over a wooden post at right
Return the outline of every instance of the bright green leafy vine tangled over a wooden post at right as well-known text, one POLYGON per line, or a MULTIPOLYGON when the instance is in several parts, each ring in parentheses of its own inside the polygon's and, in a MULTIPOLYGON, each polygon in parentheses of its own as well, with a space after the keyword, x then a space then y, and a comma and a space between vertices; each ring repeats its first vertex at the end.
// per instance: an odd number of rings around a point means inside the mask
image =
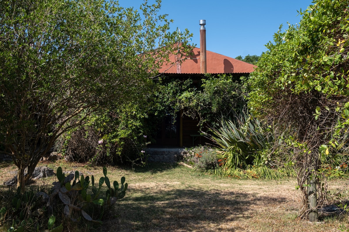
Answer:
POLYGON ((348 0, 316 0, 300 12, 299 25, 284 32, 280 26, 250 79, 249 106, 287 138, 303 191, 302 213, 309 213, 310 221, 318 220, 323 200, 317 181, 323 161, 345 159, 347 148, 348 5, 348 0))

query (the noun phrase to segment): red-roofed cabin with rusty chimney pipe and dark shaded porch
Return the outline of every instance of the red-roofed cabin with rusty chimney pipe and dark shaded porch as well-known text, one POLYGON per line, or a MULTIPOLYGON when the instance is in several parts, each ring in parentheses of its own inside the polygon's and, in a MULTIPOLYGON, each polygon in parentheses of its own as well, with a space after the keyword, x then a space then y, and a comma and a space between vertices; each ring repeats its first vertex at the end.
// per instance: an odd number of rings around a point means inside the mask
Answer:
MULTIPOLYGON (((201 80, 206 73, 210 73, 213 76, 229 74, 240 78, 254 71, 255 65, 206 50, 205 24, 205 20, 200 20, 200 48, 194 47, 191 55, 185 57, 181 62, 177 62, 176 55, 172 55, 170 62, 164 63, 159 73, 162 73, 164 77, 169 79, 185 80, 192 78, 201 80)), ((162 148, 175 149, 210 143, 206 137, 200 134, 198 123, 198 120, 183 115, 183 111, 178 112, 176 115, 168 114, 168 116, 163 118, 162 122, 159 122, 156 143, 151 144, 147 152, 150 155, 154 154, 154 150, 151 150, 151 147, 156 147, 160 149, 158 151, 163 152, 162 148)))

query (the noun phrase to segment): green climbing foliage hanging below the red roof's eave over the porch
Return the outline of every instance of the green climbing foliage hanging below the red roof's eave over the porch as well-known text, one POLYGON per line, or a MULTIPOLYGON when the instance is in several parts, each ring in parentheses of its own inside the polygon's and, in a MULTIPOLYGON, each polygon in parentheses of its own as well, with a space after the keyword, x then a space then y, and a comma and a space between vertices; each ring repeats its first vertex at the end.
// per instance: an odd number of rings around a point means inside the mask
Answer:
POLYGON ((199 125, 216 126, 217 121, 239 111, 246 104, 244 87, 231 75, 209 74, 202 80, 163 80, 155 92, 155 115, 178 112, 199 119, 199 125))

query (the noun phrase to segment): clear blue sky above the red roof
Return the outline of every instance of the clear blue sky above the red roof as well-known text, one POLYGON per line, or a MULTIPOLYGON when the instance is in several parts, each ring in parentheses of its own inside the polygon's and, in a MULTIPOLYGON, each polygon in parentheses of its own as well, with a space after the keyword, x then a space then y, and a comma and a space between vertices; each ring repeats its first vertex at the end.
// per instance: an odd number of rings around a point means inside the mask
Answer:
MULTIPOLYGON (((143 0, 119 0, 122 7, 138 9, 143 0)), ((155 0, 149 0, 153 4, 155 0)), ((193 33, 192 43, 200 47, 199 20, 206 20, 206 48, 235 58, 261 55, 265 44, 287 22, 300 21, 297 10, 305 10, 312 0, 162 0, 160 14, 173 19, 171 30, 178 27, 193 33)))

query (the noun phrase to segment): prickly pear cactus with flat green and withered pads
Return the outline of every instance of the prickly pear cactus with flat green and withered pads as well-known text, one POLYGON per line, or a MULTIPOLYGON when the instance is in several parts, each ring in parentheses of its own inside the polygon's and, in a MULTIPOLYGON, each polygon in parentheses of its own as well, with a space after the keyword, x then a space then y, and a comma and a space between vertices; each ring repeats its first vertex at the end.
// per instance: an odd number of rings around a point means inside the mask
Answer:
POLYGON ((95 186, 93 175, 91 180, 89 176, 80 176, 79 171, 65 176, 62 168, 58 167, 56 174, 58 182, 53 183, 51 198, 58 196, 64 205, 65 217, 77 221, 81 215, 87 221, 101 224, 104 213, 111 209, 118 199, 125 197, 128 187, 125 177, 121 177, 121 186, 117 181, 114 181, 111 186, 106 167, 103 167, 103 174, 104 176, 98 181, 98 186, 95 186), (107 190, 102 190, 104 183, 107 190))

